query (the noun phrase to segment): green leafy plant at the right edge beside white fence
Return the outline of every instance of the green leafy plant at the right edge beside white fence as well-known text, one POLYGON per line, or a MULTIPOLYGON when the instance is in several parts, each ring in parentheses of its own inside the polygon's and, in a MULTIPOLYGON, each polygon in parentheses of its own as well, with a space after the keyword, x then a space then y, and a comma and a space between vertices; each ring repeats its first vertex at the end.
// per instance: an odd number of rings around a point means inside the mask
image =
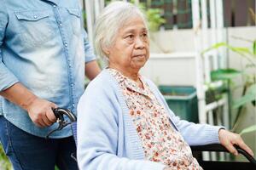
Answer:
MULTIPOLYGON (((236 37, 237 38, 237 37, 236 37)), ((239 38, 241 40, 245 40, 243 38, 239 38)), ((251 42, 251 47, 233 47, 230 44, 225 42, 220 42, 213 45, 211 48, 207 48, 202 52, 202 54, 207 53, 208 51, 218 49, 221 47, 229 48, 231 51, 239 54, 244 59, 247 59, 248 64, 241 71, 237 71, 232 68, 228 69, 218 69, 217 71, 211 72, 212 80, 223 80, 227 82, 231 82, 233 78, 242 76, 244 78, 244 82, 242 84, 242 94, 240 99, 236 99, 233 102, 232 108, 238 109, 238 113, 235 120, 235 125, 238 117, 241 115, 241 108, 247 103, 252 102, 255 107, 256 101, 256 40, 247 42, 251 42), (249 71, 248 71, 249 70, 249 71)), ((249 133, 256 131, 256 125, 251 127, 247 127, 241 131, 241 133, 249 133)))

